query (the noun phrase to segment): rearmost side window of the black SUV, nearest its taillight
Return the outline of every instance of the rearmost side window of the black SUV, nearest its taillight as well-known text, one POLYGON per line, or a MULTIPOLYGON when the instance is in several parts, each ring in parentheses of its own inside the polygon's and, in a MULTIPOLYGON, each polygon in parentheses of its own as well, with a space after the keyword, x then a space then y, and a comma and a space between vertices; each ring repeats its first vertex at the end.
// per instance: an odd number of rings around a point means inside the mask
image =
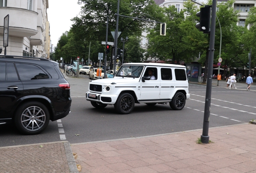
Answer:
POLYGON ((31 64, 16 63, 21 80, 47 79, 49 76, 39 67, 31 64))

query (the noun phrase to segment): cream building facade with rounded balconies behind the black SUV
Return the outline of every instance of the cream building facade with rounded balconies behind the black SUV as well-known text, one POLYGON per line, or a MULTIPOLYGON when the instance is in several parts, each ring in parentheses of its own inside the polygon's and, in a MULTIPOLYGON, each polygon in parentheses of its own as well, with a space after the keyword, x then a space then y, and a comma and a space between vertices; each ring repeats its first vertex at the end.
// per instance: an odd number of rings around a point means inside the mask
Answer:
MULTIPOLYGON (((0 0, 0 47, 9 15, 7 55, 50 58, 48 0, 0 0)), ((3 54, 2 52, 2 54, 3 54)))

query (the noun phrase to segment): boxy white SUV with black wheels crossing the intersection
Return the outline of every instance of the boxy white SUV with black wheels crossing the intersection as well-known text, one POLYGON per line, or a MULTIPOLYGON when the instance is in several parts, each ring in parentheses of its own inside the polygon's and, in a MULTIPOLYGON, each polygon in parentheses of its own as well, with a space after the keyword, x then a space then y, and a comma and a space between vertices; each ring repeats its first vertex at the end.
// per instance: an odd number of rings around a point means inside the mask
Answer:
POLYGON ((132 112, 135 103, 181 110, 189 98, 186 66, 159 63, 123 64, 114 78, 91 81, 86 93, 93 107, 114 105, 120 114, 132 112))

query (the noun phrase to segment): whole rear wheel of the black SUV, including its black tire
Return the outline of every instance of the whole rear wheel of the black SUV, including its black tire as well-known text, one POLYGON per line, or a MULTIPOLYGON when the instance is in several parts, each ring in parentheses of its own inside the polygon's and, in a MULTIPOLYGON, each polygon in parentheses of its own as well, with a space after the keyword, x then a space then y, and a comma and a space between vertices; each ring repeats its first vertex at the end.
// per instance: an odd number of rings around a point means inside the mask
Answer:
POLYGON ((21 105, 15 114, 14 123, 25 135, 41 133, 49 124, 50 113, 42 103, 30 101, 21 105))

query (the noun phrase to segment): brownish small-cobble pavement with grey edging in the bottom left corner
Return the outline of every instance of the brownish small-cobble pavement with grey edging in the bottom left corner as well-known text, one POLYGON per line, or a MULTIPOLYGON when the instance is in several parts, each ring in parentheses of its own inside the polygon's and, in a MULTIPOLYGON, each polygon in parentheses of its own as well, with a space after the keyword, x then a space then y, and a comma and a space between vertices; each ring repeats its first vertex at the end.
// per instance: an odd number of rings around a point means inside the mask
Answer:
POLYGON ((0 147, 0 173, 78 173, 78 171, 70 143, 62 141, 0 147))

